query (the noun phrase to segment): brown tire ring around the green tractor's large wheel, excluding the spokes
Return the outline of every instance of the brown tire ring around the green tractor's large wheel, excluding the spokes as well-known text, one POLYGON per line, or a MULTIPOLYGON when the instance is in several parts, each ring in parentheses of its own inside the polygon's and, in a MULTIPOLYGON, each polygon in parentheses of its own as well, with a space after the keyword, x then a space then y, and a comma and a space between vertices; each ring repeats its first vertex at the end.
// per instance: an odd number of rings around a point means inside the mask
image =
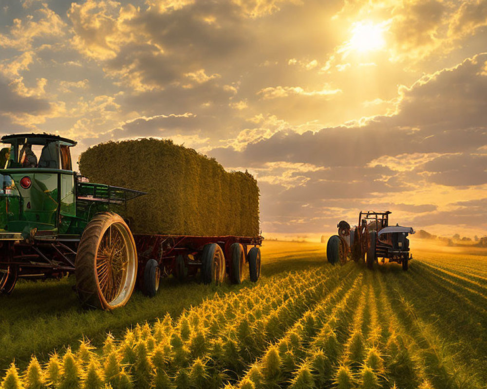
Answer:
POLYGON ((79 241, 75 260, 75 275, 76 291, 81 305, 84 308, 99 308, 111 311, 124 306, 130 300, 137 276, 137 250, 132 233, 122 217, 113 212, 100 212, 94 215, 93 219, 90 220, 83 231, 79 241), (135 261, 131 269, 131 284, 124 293, 125 298, 120 303, 110 304, 109 301, 106 301, 99 287, 98 276, 96 274, 96 254, 103 234, 110 225, 115 223, 120 224, 120 227, 128 234, 135 261))

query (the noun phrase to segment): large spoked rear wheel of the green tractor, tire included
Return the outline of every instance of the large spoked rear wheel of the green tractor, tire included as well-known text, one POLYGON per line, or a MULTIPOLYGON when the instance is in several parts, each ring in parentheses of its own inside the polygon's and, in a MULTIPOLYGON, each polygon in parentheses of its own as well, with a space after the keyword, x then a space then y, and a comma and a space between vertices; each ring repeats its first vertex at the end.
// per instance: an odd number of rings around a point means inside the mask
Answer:
POLYGON ((88 223, 76 253, 75 271, 83 306, 112 310, 129 301, 137 277, 137 251, 119 215, 98 213, 88 223))

